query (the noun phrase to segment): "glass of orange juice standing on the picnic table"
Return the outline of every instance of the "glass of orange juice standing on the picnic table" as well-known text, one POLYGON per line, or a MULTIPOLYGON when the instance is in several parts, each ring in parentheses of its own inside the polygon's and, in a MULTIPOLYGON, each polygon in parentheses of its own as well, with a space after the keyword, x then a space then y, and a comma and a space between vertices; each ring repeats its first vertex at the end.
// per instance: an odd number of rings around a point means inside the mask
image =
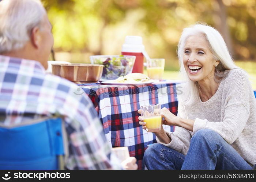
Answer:
POLYGON ((147 59, 147 74, 150 79, 161 80, 165 69, 165 59, 147 59))

